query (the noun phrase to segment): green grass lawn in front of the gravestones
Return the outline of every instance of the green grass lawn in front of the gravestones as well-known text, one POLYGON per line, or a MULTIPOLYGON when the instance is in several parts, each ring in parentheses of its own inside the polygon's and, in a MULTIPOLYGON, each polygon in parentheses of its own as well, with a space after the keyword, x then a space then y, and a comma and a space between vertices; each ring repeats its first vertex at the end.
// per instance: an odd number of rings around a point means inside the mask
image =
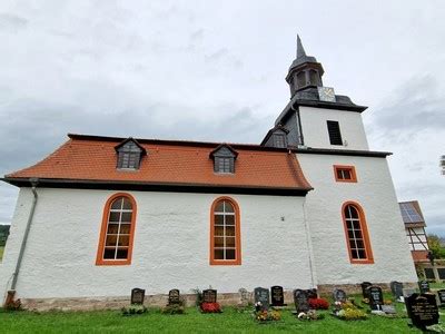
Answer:
MULTIPOLYGON (((398 317, 370 315, 366 321, 344 322, 324 311, 316 322, 299 321, 290 310, 279 322, 258 324, 250 312, 225 307, 222 314, 201 314, 195 307, 184 315, 165 315, 150 310, 144 315, 122 316, 120 311, 101 312, 0 312, 1 333, 421 333, 407 326, 404 305, 397 304, 398 317)), ((366 306, 367 307, 367 306, 366 306)))

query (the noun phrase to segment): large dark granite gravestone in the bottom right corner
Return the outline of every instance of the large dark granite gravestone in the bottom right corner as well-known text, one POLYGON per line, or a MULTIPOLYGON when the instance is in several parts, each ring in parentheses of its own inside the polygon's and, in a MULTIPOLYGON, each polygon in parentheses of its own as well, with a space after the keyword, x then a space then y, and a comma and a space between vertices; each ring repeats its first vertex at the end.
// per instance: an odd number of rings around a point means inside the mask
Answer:
POLYGON ((413 294, 405 298, 406 311, 413 325, 425 331, 426 326, 438 323, 436 296, 433 294, 413 294))

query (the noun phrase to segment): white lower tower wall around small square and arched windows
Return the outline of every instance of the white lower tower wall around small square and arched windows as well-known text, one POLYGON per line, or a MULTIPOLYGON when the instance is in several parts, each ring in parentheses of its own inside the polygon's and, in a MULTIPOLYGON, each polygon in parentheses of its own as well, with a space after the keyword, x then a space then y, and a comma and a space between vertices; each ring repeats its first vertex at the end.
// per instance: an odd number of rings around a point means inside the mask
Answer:
POLYGON ((309 191, 309 222, 318 284, 356 284, 364 281, 416 282, 387 161, 384 158, 298 154, 309 191), (333 165, 355 166, 357 183, 337 183, 333 165), (365 213, 374 264, 350 264, 342 205, 353 200, 365 213))

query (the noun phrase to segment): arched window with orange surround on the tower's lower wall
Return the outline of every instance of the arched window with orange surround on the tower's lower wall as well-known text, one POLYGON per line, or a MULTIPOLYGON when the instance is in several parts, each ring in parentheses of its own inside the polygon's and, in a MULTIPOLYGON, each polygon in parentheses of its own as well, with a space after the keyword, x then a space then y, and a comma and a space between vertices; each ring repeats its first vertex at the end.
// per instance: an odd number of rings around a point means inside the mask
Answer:
POLYGON ((343 205, 343 220, 350 263, 373 264, 374 257, 362 207, 357 203, 345 203, 343 205))

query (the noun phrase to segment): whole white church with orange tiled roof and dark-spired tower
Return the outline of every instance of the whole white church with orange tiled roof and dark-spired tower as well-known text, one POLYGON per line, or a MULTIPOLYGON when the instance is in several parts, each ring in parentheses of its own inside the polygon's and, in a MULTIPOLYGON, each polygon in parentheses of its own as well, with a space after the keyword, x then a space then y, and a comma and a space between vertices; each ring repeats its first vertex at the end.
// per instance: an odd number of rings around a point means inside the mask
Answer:
POLYGON ((298 38, 290 101, 257 145, 70 134, 6 175, 20 193, 3 303, 117 307, 139 287, 162 304, 211 286, 229 304, 241 287, 415 283, 390 154, 369 150, 366 107, 323 75, 298 38))

